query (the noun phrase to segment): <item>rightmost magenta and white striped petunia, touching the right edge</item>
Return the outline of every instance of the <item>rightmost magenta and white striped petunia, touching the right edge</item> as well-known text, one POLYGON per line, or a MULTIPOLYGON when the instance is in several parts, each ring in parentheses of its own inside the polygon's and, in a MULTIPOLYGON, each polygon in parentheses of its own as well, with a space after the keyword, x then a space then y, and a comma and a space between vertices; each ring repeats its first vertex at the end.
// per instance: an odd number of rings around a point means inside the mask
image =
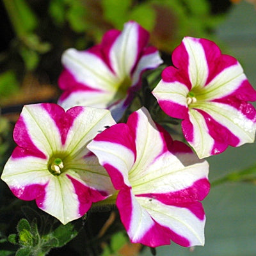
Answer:
POLYGON ((206 39, 185 37, 173 51, 173 65, 163 70, 153 90, 159 106, 182 120, 182 131, 200 158, 228 145, 252 143, 256 111, 248 101, 256 91, 232 56, 206 39))

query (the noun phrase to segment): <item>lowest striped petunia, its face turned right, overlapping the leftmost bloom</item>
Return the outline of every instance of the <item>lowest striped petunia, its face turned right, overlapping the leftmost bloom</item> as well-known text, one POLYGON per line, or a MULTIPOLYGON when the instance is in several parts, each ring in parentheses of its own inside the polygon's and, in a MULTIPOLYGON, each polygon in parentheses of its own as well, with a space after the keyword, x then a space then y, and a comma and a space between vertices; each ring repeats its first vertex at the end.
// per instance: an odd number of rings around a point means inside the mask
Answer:
POLYGON ((132 243, 156 247, 204 244, 208 163, 173 141, 147 109, 88 144, 118 190, 116 205, 132 243))

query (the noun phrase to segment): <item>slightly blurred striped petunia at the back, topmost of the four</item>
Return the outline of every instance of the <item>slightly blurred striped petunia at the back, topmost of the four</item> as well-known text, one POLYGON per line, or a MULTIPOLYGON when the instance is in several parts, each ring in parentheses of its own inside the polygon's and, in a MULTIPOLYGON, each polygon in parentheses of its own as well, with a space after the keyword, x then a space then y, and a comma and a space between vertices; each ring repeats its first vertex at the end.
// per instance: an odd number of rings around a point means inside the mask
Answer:
POLYGON ((109 30, 99 45, 87 51, 67 49, 59 78, 64 91, 58 104, 68 109, 83 105, 106 108, 119 120, 141 87, 141 75, 163 61, 148 47, 148 32, 133 21, 123 31, 109 30))

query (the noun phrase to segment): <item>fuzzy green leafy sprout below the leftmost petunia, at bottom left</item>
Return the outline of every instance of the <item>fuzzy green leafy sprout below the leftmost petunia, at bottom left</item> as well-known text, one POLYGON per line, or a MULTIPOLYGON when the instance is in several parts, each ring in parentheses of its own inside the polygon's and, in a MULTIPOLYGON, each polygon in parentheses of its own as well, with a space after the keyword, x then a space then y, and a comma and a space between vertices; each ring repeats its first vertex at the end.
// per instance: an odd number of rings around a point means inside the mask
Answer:
POLYGON ((71 223, 49 230, 47 234, 40 234, 36 218, 31 223, 23 218, 17 225, 17 234, 10 234, 8 241, 20 246, 15 256, 44 256, 52 248, 67 244, 76 236, 77 230, 71 223))

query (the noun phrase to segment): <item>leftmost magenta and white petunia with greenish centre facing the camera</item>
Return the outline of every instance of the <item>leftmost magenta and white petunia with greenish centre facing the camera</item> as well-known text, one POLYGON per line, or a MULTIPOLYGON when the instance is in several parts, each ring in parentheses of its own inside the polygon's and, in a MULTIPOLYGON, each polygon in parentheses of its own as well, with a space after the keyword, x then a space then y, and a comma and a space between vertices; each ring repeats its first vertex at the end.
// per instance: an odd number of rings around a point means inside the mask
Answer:
POLYGON ((115 191, 108 173, 86 148, 115 121, 106 109, 57 104, 24 106, 13 131, 17 147, 1 179, 22 200, 66 224, 115 191))

